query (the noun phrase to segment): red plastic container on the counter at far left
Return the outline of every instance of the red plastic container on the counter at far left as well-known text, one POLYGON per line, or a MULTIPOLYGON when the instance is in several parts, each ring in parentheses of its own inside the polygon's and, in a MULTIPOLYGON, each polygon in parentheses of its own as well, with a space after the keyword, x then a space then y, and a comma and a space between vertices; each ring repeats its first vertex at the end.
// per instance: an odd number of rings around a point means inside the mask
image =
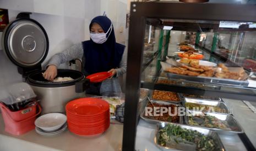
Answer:
POLYGON ((22 135, 35 129, 36 116, 39 115, 42 111, 39 104, 17 112, 10 111, 2 103, 0 103, 0 108, 3 115, 5 130, 12 135, 22 135), (37 113, 36 107, 38 108, 37 113))

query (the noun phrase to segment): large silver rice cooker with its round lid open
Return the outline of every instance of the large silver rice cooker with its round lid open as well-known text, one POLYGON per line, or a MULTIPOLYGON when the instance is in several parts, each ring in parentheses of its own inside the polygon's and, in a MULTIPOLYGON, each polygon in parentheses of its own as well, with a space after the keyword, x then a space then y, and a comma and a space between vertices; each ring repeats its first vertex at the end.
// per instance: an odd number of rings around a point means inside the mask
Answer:
POLYGON ((34 90, 42 114, 65 112, 66 103, 84 96, 89 87, 89 79, 83 73, 71 69, 58 69, 57 77, 71 77, 66 82, 48 82, 42 77, 41 63, 48 54, 49 42, 47 33, 39 22, 30 19, 31 13, 20 13, 17 19, 4 29, 2 44, 4 52, 17 67, 34 90))

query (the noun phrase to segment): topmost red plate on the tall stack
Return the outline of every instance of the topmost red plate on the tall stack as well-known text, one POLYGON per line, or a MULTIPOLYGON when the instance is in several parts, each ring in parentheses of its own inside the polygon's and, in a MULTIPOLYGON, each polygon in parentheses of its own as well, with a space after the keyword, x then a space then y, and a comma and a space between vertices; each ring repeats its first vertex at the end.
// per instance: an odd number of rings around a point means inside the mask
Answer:
POLYGON ((66 111, 79 116, 92 116, 106 112, 110 105, 100 98, 78 98, 66 104, 66 111))

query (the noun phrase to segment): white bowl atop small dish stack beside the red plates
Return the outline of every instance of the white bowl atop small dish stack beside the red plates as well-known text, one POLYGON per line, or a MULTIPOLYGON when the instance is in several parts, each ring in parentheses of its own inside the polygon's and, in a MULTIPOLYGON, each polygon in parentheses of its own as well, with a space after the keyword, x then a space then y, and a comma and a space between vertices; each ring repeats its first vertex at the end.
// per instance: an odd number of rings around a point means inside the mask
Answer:
POLYGON ((48 113, 42 115, 35 120, 35 125, 44 131, 58 130, 64 123, 67 117, 61 113, 48 113))

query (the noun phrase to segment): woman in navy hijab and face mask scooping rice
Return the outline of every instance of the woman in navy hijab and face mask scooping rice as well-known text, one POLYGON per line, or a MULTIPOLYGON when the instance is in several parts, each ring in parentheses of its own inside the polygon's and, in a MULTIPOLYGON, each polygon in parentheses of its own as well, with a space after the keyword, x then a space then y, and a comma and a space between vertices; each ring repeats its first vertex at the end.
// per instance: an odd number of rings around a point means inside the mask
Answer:
POLYGON ((112 77, 102 83, 91 83, 86 90, 92 95, 117 95, 121 92, 118 78, 126 73, 127 53, 125 46, 116 43, 115 32, 111 20, 106 16, 97 16, 91 20, 90 40, 86 40, 73 47, 54 55, 47 64, 43 77, 47 80, 55 79, 57 67, 64 62, 81 59, 83 57, 83 73, 85 75, 97 72, 111 72, 112 77))

